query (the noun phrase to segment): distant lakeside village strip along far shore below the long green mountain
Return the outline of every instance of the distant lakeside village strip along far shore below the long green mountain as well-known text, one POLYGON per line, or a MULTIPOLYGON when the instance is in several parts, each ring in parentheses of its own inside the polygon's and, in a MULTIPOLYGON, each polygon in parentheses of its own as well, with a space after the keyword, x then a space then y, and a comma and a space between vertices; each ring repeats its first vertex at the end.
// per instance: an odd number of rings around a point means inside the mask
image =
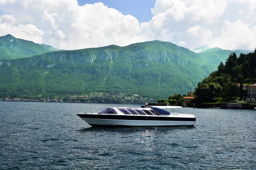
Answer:
POLYGON ((140 97, 139 94, 132 94, 128 96, 121 92, 116 95, 105 93, 87 94, 84 96, 68 95, 66 98, 38 98, 38 99, 22 99, 22 98, 0 98, 0 101, 9 102, 70 102, 70 103, 114 103, 114 104, 143 104, 145 102, 154 103, 154 99, 148 97, 140 97))

